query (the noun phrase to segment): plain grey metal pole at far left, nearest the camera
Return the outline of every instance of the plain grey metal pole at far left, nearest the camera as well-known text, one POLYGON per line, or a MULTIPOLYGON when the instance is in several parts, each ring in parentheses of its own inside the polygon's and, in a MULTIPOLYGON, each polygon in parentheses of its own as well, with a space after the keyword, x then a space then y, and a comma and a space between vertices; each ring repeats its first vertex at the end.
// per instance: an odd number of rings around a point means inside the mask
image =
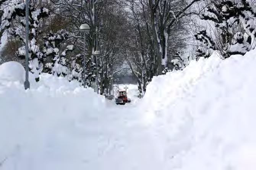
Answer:
POLYGON ((29 41, 29 0, 26 0, 26 61, 25 61, 25 69, 26 69, 26 79, 24 82, 25 89, 30 88, 29 80, 28 80, 28 60, 29 60, 29 51, 28 51, 28 41, 29 41))

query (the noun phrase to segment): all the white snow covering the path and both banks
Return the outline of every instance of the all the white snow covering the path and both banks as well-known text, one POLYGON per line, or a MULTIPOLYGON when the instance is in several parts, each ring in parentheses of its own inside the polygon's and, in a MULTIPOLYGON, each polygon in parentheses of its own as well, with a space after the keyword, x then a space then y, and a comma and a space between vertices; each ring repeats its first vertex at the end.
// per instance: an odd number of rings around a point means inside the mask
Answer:
POLYGON ((255 56, 193 61, 143 99, 129 85, 125 106, 47 74, 24 91, 0 66, 0 169, 254 170, 255 56))

